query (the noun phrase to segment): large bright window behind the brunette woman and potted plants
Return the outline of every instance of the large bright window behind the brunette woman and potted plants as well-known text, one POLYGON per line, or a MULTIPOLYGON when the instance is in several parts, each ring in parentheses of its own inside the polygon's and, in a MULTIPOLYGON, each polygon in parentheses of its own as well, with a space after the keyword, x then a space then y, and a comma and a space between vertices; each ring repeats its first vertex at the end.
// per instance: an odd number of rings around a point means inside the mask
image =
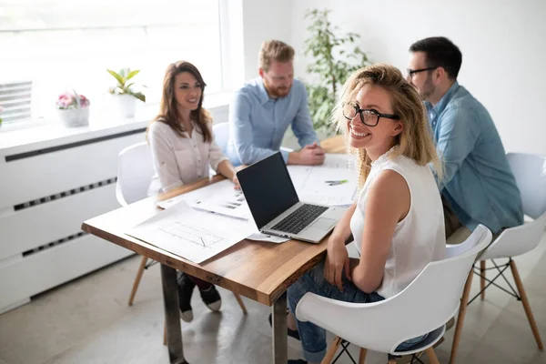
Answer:
POLYGON ((207 92, 219 91, 219 1, 0 0, 0 89, 32 83, 33 119, 55 117, 56 97, 73 88, 95 114, 108 108, 116 83, 106 68, 141 70, 135 81, 153 104, 167 66, 184 59, 199 68, 207 92))

